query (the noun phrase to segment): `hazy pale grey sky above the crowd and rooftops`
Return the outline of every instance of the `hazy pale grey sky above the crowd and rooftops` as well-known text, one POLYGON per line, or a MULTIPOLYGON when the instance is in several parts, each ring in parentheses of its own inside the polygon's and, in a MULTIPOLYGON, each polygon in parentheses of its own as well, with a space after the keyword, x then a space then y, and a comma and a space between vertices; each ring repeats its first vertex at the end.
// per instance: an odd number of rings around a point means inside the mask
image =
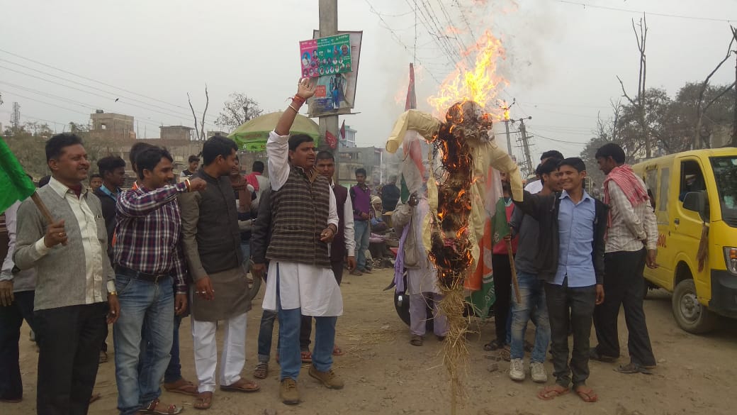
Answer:
MULTIPOLYGON (((346 124, 359 145, 383 147, 404 110, 415 44, 417 100, 429 111, 435 79, 452 71, 453 59, 428 31, 456 27, 459 41, 447 46, 458 49, 474 43, 471 32, 490 30, 506 49, 498 75, 509 86, 499 97, 517 100, 512 117, 533 117, 534 157, 550 148, 579 154, 598 112, 607 117, 609 100, 621 97, 616 76, 628 92, 637 88, 630 19, 641 15, 611 8, 695 17, 647 15, 647 83, 671 95, 705 78, 727 52, 727 20, 737 23, 735 0, 339 0, 339 29, 364 32, 360 114, 346 124), (424 22, 427 15, 435 23, 424 22)), ((57 131, 103 109, 136 117, 139 137, 158 137, 162 123, 192 125, 186 92, 199 116, 205 83, 211 129, 231 92, 267 112, 284 109, 299 76, 298 41, 318 27, 317 0, 0 0, 0 10, 0 123, 7 126, 14 101, 22 121, 57 131)), ((725 64, 714 82, 733 82, 734 66, 725 64)), ((497 134, 506 148, 504 138, 497 134)))

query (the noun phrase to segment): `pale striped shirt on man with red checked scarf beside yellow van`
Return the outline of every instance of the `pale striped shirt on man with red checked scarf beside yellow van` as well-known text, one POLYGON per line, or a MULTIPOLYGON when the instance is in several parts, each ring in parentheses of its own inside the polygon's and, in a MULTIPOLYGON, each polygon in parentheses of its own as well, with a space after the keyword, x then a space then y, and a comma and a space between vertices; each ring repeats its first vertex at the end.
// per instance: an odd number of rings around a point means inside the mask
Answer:
MULTIPOLYGON (((645 188, 642 179, 637 178, 645 188)), ((609 181, 609 213, 612 224, 607 231, 606 252, 638 251, 643 246, 657 249, 657 220, 650 202, 632 206, 614 180, 609 181)))

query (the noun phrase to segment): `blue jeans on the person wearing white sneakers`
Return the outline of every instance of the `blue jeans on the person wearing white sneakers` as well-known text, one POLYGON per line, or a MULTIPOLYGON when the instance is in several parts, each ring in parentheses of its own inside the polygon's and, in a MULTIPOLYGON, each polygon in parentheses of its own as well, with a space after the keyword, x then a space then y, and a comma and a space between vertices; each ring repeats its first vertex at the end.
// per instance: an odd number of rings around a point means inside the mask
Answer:
POLYGON ((532 350, 531 361, 545 362, 545 353, 551 340, 551 327, 548 322, 548 306, 545 303, 544 283, 537 279, 537 275, 518 271, 517 281, 520 284, 520 298, 511 296, 511 358, 522 359, 525 355, 525 329, 527 322, 532 318, 535 324, 535 346, 532 350))

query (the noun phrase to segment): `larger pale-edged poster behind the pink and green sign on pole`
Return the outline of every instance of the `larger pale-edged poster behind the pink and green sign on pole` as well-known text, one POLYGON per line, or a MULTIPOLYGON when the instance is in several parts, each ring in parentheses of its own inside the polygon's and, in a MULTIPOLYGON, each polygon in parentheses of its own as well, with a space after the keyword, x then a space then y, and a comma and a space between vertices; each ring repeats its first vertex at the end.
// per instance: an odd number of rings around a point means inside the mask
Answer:
MULTIPOLYGON (((312 40, 319 41, 319 34, 318 30, 312 32, 312 40)), ((351 70, 349 72, 318 75, 315 96, 307 100, 307 112, 310 117, 350 114, 354 108, 363 31, 340 31, 338 35, 349 37, 351 70)), ((317 50, 319 55, 319 49, 317 50)), ((335 52, 335 49, 333 49, 333 52, 335 52)))

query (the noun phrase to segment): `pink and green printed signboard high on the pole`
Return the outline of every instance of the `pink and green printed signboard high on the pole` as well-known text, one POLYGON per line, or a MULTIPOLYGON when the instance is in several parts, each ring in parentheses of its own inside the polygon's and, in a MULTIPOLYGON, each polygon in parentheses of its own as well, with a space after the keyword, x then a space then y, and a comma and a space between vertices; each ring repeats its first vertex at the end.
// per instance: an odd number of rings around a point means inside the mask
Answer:
POLYGON ((299 42, 302 76, 317 78, 351 72, 350 36, 328 36, 299 42))

